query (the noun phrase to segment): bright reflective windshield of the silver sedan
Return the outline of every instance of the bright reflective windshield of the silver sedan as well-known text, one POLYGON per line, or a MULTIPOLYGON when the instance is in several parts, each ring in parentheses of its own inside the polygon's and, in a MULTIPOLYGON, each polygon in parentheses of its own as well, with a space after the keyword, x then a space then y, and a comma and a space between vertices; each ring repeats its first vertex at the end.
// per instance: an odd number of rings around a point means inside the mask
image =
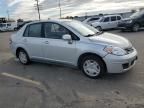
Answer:
POLYGON ((77 31, 80 35, 85 37, 95 36, 100 33, 100 31, 98 31, 97 29, 82 22, 66 21, 65 23, 73 30, 77 31))

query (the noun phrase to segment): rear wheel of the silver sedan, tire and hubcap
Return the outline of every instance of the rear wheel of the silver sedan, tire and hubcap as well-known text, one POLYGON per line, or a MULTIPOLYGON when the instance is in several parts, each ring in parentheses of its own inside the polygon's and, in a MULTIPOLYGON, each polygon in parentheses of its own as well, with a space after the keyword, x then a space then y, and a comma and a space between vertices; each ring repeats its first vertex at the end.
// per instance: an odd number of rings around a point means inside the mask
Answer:
POLYGON ((27 52, 23 49, 19 50, 18 59, 19 59, 20 63, 23 65, 28 65, 30 63, 29 56, 28 56, 27 52))

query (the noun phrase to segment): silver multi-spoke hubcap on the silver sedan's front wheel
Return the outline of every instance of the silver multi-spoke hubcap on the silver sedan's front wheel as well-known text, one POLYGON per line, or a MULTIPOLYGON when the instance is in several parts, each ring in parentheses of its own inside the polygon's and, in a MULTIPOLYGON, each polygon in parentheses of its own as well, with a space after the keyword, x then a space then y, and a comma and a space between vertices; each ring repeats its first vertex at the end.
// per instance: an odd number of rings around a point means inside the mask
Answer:
POLYGON ((86 60, 83 64, 84 72, 92 77, 99 75, 100 65, 95 60, 86 60))

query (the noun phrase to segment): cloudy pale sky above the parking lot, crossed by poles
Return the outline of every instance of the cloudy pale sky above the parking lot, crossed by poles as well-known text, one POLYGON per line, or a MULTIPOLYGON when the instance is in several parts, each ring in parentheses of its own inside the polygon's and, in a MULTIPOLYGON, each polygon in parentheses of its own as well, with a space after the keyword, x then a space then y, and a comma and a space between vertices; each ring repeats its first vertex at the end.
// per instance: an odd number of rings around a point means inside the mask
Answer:
MULTIPOLYGON (((99 13, 116 13, 144 7, 144 0, 60 0, 62 16, 82 16, 99 13)), ((59 17, 59 0, 39 0, 42 19, 59 17)), ((35 0, 0 0, 0 17, 37 20, 35 0)))

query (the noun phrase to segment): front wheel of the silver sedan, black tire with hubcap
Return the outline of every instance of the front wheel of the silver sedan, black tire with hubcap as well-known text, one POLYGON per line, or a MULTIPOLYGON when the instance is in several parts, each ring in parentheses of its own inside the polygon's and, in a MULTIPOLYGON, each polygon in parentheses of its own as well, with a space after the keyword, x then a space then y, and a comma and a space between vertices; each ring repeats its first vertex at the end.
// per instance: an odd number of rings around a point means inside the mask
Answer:
POLYGON ((95 55, 84 57, 81 61, 80 68, 86 76, 93 79, 99 78, 106 73, 105 63, 95 55))

